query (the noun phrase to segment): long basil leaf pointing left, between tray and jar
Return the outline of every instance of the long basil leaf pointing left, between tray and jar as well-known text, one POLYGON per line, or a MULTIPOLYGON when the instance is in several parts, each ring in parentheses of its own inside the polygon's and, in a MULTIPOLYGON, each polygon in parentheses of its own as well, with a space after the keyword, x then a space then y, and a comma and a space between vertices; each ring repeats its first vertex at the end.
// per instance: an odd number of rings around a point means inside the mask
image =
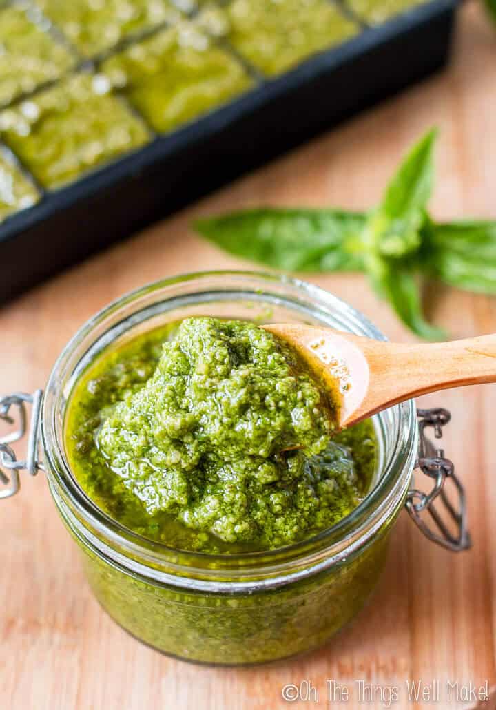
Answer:
POLYGON ((252 209, 195 228, 241 258, 284 271, 363 271, 365 215, 333 209, 252 209))

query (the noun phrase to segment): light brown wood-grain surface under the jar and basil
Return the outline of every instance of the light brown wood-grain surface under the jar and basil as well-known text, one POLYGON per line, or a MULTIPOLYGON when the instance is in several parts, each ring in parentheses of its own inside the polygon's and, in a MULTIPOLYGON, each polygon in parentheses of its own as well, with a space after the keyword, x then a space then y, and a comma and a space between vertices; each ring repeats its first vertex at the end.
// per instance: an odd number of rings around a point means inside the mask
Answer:
MULTIPOLYGON (((183 271, 247 266, 200 241, 189 228, 194 215, 256 204, 366 207, 432 124, 441 129, 436 215, 496 218, 495 117, 496 31, 471 0, 442 74, 0 310, 0 391, 43 387, 75 329, 126 290, 183 271)), ((413 339, 360 275, 314 280, 389 337, 413 339)), ((441 288, 426 297, 431 316, 454 337, 496 331, 496 299, 441 288)), ((435 547, 402 514, 382 582, 355 623, 318 652, 266 667, 197 667, 129 638, 92 599, 43 474, 23 480, 21 494, 0 503, 0 708, 339 706, 327 700, 326 680, 333 679, 350 687, 348 708, 384 706, 380 697, 360 705, 356 679, 399 686, 392 707, 470 706, 448 701, 445 684, 496 684, 496 386, 429 395, 423 403, 453 413, 446 451, 468 491, 473 550, 457 556, 435 547), (440 680, 441 701, 409 703, 407 678, 440 680), (318 703, 281 699, 284 684, 306 679, 318 703)))

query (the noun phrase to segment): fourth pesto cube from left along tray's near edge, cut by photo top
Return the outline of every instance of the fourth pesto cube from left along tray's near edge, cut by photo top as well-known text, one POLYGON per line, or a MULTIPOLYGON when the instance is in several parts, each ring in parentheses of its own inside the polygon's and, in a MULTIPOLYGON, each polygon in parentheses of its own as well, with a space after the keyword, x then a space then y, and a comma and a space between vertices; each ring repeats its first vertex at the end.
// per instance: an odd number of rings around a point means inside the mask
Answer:
POLYGON ((229 42, 264 75, 280 74, 358 31, 328 0, 232 0, 229 42))

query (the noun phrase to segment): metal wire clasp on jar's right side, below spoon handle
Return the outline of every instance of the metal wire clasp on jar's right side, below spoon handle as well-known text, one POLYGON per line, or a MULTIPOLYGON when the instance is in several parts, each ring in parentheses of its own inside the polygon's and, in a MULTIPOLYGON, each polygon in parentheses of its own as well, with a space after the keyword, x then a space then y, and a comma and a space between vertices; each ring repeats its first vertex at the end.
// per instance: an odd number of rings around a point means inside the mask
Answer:
POLYGON ((424 535, 436 542, 437 545, 445 547, 452 552, 468 550, 472 545, 467 525, 467 501, 465 488, 455 474, 455 466, 452 461, 446 459, 443 449, 436 449, 426 435, 426 428, 432 427, 436 439, 443 436, 443 427, 451 420, 451 414, 446 409, 418 409, 419 420, 419 459, 416 469, 433 479, 434 484, 429 493, 419 491, 418 488, 411 488, 406 496, 406 510, 417 527, 424 535), (457 502, 455 506, 446 495, 445 485, 447 481, 452 481, 455 488, 457 502), (451 532, 439 510, 442 508, 448 513, 448 518, 453 523, 455 532, 451 532), (427 511, 433 520, 433 525, 428 525, 422 513, 427 511))

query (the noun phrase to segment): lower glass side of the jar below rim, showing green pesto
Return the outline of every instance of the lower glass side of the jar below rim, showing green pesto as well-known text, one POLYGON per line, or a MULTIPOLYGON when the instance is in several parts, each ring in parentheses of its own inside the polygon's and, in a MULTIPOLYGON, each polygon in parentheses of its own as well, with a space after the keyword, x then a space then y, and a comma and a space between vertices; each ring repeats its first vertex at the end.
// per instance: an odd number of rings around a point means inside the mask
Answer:
POLYGON ((389 530, 345 562, 255 594, 203 594, 139 579, 79 545, 93 594, 126 631, 203 663, 262 663, 317 648, 364 606, 384 568, 389 530), (146 610, 146 611, 145 611, 146 610))

